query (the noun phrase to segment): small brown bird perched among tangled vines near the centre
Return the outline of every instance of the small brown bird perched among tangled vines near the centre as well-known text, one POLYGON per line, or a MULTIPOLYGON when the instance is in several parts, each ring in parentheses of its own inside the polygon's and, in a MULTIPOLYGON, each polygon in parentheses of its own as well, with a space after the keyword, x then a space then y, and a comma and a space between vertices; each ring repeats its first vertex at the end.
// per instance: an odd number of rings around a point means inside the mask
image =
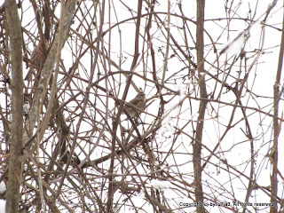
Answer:
MULTIPOLYGON (((138 94, 134 99, 124 105, 124 109, 130 114, 130 117, 138 117, 146 107, 146 97, 143 91, 138 91, 138 94)), ((125 114, 122 111, 122 114, 125 114)))

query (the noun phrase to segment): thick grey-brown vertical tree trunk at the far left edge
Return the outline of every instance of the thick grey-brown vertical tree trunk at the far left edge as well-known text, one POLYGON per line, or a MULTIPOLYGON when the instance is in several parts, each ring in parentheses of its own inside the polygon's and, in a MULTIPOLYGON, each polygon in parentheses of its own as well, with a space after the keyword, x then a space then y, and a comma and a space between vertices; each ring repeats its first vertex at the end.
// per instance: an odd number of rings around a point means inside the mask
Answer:
POLYGON ((14 0, 5 3, 8 21, 11 60, 12 60, 12 140, 10 145, 10 162, 7 188, 6 212, 19 212, 21 162, 19 157, 23 150, 23 70, 22 70, 22 35, 17 4, 14 0))

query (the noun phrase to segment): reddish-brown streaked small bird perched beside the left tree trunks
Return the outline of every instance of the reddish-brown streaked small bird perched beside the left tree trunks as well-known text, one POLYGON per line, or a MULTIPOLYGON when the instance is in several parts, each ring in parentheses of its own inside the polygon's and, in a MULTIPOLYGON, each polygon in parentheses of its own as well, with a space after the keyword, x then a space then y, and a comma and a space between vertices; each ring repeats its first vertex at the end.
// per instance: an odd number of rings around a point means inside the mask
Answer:
MULTIPOLYGON (((49 43, 46 39, 44 39, 45 49, 49 47, 49 43)), ((38 43, 34 51, 30 56, 30 65, 28 70, 28 75, 26 75, 25 80, 28 82, 31 81, 32 75, 34 74, 34 69, 39 71, 43 67, 43 63, 45 61, 44 54, 43 54, 43 44, 38 43)))

